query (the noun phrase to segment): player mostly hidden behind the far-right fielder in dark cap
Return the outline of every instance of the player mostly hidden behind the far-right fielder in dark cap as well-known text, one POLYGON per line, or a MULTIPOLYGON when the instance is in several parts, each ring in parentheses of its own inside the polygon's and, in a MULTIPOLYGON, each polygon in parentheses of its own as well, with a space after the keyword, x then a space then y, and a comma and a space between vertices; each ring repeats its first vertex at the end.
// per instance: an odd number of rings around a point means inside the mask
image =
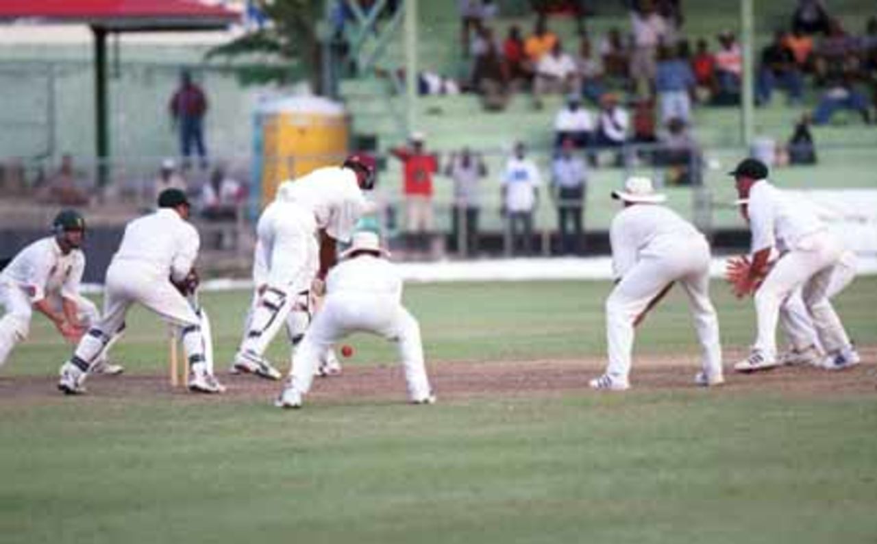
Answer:
MULTIPOLYGON (((748 198, 740 198, 737 201, 740 214, 749 222, 748 198)), ((776 251, 771 254, 769 266, 774 266, 778 255, 776 251)), ((845 250, 840 257, 838 268, 831 274, 831 280, 827 290, 827 296, 831 299, 846 286, 852 283, 856 276, 856 254, 845 250)), ((786 341, 787 348, 777 355, 777 362, 781 365, 810 365, 814 367, 833 369, 832 365, 826 365, 825 352, 819 343, 819 336, 810 319, 807 306, 804 304, 802 289, 796 289, 789 295, 780 306, 779 326, 786 341)))

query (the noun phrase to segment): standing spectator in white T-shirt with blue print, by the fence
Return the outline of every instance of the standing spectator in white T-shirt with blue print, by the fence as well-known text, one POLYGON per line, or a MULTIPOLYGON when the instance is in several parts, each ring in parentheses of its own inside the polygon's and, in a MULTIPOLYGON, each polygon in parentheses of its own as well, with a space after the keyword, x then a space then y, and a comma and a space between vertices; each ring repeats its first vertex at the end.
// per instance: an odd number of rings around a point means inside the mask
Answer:
POLYGON ((542 176, 536 163, 526 156, 524 143, 515 144, 515 152, 506 163, 502 179, 502 213, 505 215, 505 250, 517 254, 532 252, 533 211, 538 206, 542 176))

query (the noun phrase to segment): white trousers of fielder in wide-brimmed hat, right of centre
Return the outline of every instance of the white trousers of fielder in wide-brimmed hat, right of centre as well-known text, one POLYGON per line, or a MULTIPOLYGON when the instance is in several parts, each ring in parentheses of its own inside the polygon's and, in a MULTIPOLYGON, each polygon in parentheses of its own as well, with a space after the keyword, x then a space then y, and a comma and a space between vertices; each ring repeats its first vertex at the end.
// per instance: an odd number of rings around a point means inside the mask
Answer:
POLYGON ((606 300, 606 373, 622 383, 631 373, 633 321, 670 283, 688 295, 691 317, 702 352, 702 369, 710 376, 722 372, 716 309, 709 300, 709 245, 702 237, 680 240, 660 257, 643 257, 624 275, 606 300))

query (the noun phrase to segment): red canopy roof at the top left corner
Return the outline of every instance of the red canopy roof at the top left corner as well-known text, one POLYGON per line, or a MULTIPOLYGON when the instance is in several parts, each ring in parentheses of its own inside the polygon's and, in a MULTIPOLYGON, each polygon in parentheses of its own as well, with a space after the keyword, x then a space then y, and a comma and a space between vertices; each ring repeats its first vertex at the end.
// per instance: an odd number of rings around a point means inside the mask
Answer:
POLYGON ((224 27, 239 13, 196 0, 3 0, 0 19, 83 23, 108 30, 224 27))

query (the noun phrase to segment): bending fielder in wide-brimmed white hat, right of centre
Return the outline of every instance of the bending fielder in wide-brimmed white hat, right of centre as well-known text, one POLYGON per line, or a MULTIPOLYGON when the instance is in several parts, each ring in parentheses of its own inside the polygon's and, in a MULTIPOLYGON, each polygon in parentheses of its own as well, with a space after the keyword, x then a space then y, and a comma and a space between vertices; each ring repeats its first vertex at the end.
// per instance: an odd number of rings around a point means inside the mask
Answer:
POLYGON ((616 287, 606 300, 606 335, 609 366, 590 381, 597 390, 630 388, 634 327, 645 318, 674 283, 679 283, 691 306, 702 350, 702 369, 695 383, 724 383, 718 318, 709 301, 709 244, 693 225, 660 205, 663 195, 652 189, 647 177, 631 177, 624 190, 612 197, 621 200, 610 227, 612 268, 616 287))

